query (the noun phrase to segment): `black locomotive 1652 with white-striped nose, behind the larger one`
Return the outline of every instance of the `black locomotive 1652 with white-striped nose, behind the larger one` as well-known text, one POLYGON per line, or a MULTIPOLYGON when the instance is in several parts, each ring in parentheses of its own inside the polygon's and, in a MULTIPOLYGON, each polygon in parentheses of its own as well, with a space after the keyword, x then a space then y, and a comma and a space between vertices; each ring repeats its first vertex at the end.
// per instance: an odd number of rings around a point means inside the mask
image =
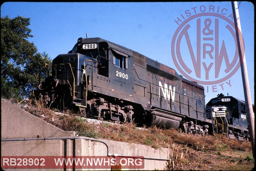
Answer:
POLYGON ((226 134, 232 139, 250 140, 243 100, 220 93, 206 104, 206 117, 212 119, 215 132, 226 134))

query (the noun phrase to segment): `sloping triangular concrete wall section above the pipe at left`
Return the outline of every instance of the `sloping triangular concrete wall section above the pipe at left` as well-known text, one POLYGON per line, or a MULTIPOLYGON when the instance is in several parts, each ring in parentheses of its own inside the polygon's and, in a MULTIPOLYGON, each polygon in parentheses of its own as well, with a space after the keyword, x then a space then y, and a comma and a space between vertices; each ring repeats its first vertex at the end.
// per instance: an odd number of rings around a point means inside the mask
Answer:
POLYGON ((56 126, 26 112, 7 100, 1 100, 1 138, 71 137, 73 131, 56 126))

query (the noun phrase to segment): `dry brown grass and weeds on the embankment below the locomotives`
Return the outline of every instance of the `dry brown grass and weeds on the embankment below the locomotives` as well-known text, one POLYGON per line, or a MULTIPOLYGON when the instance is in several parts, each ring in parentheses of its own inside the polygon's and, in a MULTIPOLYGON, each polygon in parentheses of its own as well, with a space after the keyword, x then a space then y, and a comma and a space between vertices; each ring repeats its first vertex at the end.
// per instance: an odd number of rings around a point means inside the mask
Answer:
POLYGON ((137 129, 135 124, 129 123, 95 125, 85 122, 86 119, 73 111, 56 114, 39 101, 33 105, 27 103, 23 108, 63 130, 76 131, 79 136, 170 148, 172 158, 166 170, 252 170, 254 167, 251 142, 229 139, 221 134, 202 137, 155 126, 137 129))

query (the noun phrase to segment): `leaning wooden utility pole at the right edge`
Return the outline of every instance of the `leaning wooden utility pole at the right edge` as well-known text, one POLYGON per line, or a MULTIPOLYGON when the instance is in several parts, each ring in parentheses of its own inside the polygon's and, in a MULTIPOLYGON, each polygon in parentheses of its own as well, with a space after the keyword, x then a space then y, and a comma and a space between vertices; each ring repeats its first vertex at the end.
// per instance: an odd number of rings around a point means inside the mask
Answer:
POLYGON ((241 25, 240 25, 240 18, 239 18, 237 2, 232 1, 231 4, 232 4, 232 9, 233 9, 233 14, 234 14, 234 21, 235 21, 235 28, 236 28, 236 39, 237 39, 242 79, 243 79, 243 86, 244 86, 244 98, 245 98, 245 104, 246 104, 246 113, 247 113, 247 119, 248 119, 248 123, 249 123, 248 129, 249 129, 251 143, 252 143, 252 154, 253 154, 253 158, 255 158, 254 118, 253 118, 250 86, 249 86, 249 80, 248 80, 248 74, 247 74, 247 66, 246 66, 246 61, 245 61, 244 41, 243 41, 243 37, 242 37, 242 30, 241 30, 241 25))

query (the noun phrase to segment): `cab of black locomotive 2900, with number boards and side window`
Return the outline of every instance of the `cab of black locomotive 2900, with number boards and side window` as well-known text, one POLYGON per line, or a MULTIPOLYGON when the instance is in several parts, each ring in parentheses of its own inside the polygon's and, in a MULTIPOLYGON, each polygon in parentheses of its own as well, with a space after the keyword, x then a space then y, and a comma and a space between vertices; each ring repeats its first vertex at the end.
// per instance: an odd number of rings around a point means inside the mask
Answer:
POLYGON ((79 38, 68 53, 97 59, 98 87, 133 97, 133 57, 128 49, 100 38, 79 38))

